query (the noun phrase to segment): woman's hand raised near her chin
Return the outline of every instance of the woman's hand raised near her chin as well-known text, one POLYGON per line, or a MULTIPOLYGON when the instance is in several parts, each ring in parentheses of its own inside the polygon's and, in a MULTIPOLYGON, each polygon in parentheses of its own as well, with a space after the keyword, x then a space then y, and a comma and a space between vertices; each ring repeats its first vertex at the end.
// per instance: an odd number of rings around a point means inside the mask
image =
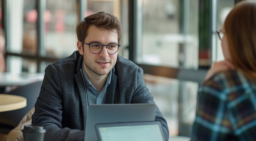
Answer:
POLYGON ((225 59, 224 61, 214 62, 211 69, 208 70, 204 80, 208 80, 213 74, 227 69, 235 69, 235 66, 230 60, 225 59))

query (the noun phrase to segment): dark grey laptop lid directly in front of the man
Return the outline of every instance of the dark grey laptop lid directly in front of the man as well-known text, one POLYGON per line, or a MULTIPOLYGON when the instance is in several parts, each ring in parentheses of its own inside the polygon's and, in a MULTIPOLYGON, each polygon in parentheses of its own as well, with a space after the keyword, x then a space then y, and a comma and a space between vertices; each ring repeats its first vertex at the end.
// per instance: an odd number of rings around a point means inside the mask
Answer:
POLYGON ((96 104, 89 105, 84 141, 97 141, 96 124, 155 121, 155 104, 96 104))

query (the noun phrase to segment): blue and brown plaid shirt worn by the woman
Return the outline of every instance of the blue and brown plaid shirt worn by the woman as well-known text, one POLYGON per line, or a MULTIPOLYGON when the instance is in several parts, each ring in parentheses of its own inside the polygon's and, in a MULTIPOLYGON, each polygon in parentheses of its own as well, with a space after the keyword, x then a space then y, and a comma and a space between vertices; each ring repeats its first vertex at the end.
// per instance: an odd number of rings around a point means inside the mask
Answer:
POLYGON ((198 98, 191 141, 256 141, 256 82, 242 71, 217 73, 198 98))

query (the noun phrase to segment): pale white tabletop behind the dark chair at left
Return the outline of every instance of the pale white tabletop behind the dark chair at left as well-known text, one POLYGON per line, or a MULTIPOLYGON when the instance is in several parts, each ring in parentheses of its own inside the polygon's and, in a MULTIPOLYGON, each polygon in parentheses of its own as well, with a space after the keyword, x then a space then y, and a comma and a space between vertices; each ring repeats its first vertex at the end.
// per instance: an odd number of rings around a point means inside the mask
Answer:
POLYGON ((0 87, 6 86, 23 86, 31 82, 43 80, 45 73, 28 74, 28 73, 0 73, 0 87))

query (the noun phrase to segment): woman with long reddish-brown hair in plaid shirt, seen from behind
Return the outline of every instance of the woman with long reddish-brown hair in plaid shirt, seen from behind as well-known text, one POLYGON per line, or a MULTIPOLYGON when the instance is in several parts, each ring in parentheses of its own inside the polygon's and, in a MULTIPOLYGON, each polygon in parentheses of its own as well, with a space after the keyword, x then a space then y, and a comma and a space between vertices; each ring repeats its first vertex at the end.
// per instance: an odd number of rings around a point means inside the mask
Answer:
POLYGON ((191 140, 256 140, 256 1, 236 4, 217 33, 225 60, 198 91, 191 140))

